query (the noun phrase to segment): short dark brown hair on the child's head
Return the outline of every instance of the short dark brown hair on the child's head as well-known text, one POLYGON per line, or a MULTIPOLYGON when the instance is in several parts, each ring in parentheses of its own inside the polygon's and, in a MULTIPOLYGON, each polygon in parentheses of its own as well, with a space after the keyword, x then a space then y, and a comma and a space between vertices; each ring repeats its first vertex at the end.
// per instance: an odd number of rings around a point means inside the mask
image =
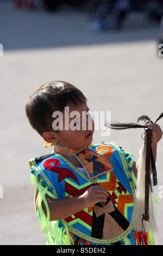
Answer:
POLYGON ((37 86, 26 102, 26 115, 30 125, 42 136, 52 131, 54 111, 64 112, 66 105, 79 106, 86 102, 84 94, 72 84, 64 81, 52 81, 37 86))

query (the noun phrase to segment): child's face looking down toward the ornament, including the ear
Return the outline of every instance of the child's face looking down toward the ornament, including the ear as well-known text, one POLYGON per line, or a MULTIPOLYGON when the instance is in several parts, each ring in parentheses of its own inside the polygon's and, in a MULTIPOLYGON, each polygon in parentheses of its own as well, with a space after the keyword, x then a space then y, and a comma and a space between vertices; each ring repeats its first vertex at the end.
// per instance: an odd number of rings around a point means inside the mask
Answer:
POLYGON ((92 143, 95 125, 86 103, 80 106, 67 106, 63 113, 63 129, 56 133, 60 147, 84 148, 92 143))

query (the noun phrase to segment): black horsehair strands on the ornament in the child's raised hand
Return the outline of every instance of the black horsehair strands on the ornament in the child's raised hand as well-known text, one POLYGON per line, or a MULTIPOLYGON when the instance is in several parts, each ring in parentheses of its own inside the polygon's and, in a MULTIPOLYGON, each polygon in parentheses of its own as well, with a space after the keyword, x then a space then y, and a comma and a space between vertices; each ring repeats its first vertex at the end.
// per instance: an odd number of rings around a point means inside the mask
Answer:
MULTIPOLYGON (((160 120, 163 117, 163 112, 159 115, 159 117, 156 119, 156 121, 154 123, 156 123, 158 120, 160 120)), ((137 119, 137 123, 139 123, 140 121, 151 121, 151 118, 148 117, 148 115, 141 115, 141 117, 139 117, 137 119)), ((105 126, 114 130, 125 130, 125 129, 136 129, 136 128, 147 128, 147 126, 145 125, 140 125, 137 123, 105 123, 105 126)), ((153 123, 151 121, 151 123, 153 123)), ((152 165, 152 174, 153 174, 153 186, 158 185, 158 181, 157 181, 157 174, 156 174, 156 167, 155 167, 155 162, 154 162, 154 157, 153 157, 153 153, 152 153, 152 147, 151 147, 151 165, 152 165)), ((150 182, 150 186, 151 186, 151 191, 152 191, 152 184, 150 182)))

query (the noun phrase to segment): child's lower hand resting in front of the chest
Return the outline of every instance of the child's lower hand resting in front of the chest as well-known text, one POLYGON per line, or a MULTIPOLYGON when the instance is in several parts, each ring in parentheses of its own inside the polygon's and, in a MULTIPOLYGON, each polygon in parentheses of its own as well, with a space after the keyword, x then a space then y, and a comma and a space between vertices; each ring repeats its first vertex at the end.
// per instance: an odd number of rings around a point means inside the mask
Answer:
POLYGON ((92 186, 84 194, 80 196, 83 199, 85 208, 91 207, 98 202, 106 202, 109 193, 105 187, 102 186, 92 186))

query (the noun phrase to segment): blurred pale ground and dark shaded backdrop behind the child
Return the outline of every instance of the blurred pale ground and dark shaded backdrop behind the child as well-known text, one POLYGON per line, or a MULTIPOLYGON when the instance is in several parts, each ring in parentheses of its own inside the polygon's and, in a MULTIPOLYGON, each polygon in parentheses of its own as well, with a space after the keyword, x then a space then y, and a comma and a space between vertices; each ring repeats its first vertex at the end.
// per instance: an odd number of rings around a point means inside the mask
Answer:
MULTIPOLYGON (((24 106, 37 84, 62 80, 77 86, 93 111, 112 121, 153 121, 163 111, 162 1, 0 0, 1 171, 0 244, 45 245, 34 209, 28 160, 50 153, 29 126, 24 106), (160 48, 159 48, 160 47, 160 48), (161 50, 162 49, 162 50, 161 50), (2 49, 1 49, 2 50, 2 49), (3 198, 2 198, 3 197, 3 198)), ((163 121, 158 124, 163 129, 163 121)), ((135 160, 142 130, 111 131, 93 142, 115 141, 135 160)), ((156 167, 162 202, 163 139, 156 167)), ((155 205, 163 245, 163 205, 155 205)))

